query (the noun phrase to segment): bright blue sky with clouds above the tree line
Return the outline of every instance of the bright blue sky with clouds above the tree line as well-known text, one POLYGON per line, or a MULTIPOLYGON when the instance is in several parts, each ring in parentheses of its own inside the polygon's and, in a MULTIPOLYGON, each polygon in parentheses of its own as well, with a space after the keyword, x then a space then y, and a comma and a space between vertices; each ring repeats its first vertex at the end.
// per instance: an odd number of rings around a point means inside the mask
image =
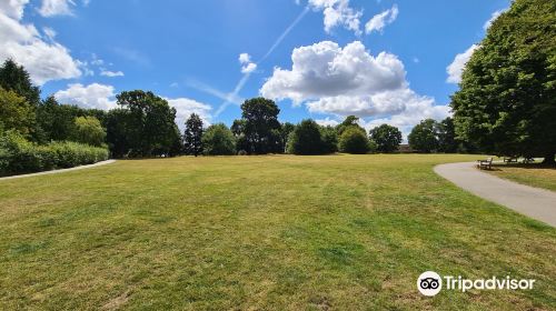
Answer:
POLYGON ((356 114, 367 128, 386 122, 407 133, 420 119, 449 114, 444 106, 473 44, 508 6, 7 0, 0 4, 0 59, 23 63, 43 97, 82 107, 109 109, 113 94, 143 89, 167 98, 180 123, 198 112, 207 122, 230 124, 240 118, 242 99, 264 94, 277 100, 281 121, 334 124, 356 114))

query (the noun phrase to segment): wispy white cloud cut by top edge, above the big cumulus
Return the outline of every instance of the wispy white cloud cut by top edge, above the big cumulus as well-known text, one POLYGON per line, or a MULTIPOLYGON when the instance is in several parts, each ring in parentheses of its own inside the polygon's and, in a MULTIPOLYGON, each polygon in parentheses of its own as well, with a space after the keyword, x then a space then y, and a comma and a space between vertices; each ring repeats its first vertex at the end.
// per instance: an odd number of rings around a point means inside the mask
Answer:
POLYGON ((349 0, 309 0, 309 6, 315 10, 322 11, 326 32, 329 33, 335 27, 344 26, 357 36, 361 34, 360 18, 363 11, 349 7, 349 0))

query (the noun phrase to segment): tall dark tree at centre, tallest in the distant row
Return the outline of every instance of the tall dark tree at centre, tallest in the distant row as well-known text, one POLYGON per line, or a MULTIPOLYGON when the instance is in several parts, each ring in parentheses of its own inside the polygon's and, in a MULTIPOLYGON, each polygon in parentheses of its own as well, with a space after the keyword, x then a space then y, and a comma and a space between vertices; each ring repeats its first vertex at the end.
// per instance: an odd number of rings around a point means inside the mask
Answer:
POLYGON ((250 154, 284 152, 278 106, 269 99, 254 98, 246 100, 241 110, 242 120, 234 126, 236 137, 241 137, 239 148, 250 154))

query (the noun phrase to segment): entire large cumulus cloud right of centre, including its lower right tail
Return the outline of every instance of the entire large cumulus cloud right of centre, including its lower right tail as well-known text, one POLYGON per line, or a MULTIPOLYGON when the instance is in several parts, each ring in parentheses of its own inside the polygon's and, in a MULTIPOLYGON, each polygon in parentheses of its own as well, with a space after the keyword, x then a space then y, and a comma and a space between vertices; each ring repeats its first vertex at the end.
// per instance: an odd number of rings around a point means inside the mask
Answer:
POLYGON ((388 123, 407 134, 423 119, 449 114, 448 107, 409 88, 396 56, 380 52, 375 57, 359 41, 345 48, 330 41, 300 47, 291 60, 291 70, 276 68, 260 93, 305 103, 311 113, 335 116, 320 120, 322 124, 354 114, 364 118, 367 129, 388 123))

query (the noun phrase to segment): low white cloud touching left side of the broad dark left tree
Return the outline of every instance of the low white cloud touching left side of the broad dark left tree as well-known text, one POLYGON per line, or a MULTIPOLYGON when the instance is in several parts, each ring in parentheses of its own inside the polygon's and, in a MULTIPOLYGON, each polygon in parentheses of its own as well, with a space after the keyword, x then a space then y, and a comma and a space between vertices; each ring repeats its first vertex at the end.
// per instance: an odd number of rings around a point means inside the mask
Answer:
POLYGON ((112 86, 92 83, 86 87, 81 83, 73 83, 69 84, 67 90, 56 92, 54 97, 61 103, 77 104, 87 109, 116 108, 116 93, 112 86))

